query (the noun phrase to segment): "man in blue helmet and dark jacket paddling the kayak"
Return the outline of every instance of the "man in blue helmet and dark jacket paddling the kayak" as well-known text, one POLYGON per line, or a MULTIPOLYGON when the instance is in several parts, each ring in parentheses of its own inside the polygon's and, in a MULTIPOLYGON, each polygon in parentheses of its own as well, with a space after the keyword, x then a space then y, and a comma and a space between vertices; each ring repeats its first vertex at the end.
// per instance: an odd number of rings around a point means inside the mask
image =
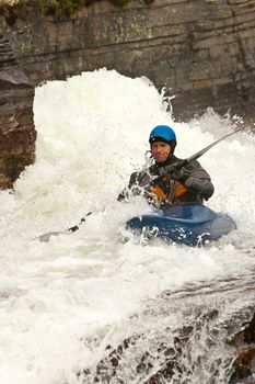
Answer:
POLYGON ((157 206, 173 204, 202 203, 215 191, 208 172, 195 160, 181 171, 173 171, 182 159, 174 156, 176 135, 167 125, 155 126, 149 137, 152 165, 148 170, 134 172, 128 188, 118 201, 142 194, 149 203, 157 206), (153 182, 153 179, 161 177, 153 182))

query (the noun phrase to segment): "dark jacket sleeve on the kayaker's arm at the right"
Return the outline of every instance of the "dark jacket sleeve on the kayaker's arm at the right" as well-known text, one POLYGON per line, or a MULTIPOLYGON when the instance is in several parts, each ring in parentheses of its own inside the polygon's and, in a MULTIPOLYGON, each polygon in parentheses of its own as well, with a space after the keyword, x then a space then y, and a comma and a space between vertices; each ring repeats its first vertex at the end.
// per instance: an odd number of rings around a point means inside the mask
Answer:
POLYGON ((185 187, 208 200, 215 192, 210 176, 196 160, 184 168, 186 174, 185 187))

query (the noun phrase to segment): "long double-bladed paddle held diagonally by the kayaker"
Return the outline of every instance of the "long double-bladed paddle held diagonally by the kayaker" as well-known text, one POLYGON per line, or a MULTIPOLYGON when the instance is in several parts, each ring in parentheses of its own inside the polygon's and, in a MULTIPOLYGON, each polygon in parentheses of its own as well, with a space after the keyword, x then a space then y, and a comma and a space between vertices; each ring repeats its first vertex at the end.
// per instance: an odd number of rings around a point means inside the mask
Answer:
MULTIPOLYGON (((176 172, 179 171, 183 167, 185 167, 185 166, 187 166, 188 163, 190 163, 190 162, 197 160, 200 156, 202 156, 204 154, 206 154, 210 148, 215 147, 215 145, 217 145, 218 143, 222 142, 222 140, 225 139, 227 137, 230 137, 230 136, 236 134, 236 133, 240 132, 240 131, 245 131, 245 129, 244 129, 244 128, 239 128, 239 129, 236 129, 236 131, 234 131, 234 132, 231 132, 231 133, 228 134, 228 135, 222 136, 222 137, 219 138, 218 140, 216 140, 216 142, 211 143, 210 145, 208 145, 206 148, 204 148, 204 149, 199 150, 198 153, 196 153, 195 155, 188 157, 187 159, 184 159, 184 160, 179 161, 177 165, 173 165, 173 167, 171 167, 172 170, 170 169, 170 170, 167 171, 167 173, 166 173, 166 172, 165 172, 165 173, 162 173, 161 176, 154 178, 153 180, 150 180, 150 181, 149 181, 148 183, 146 183, 143 187, 147 187, 147 185, 149 185, 149 184, 154 184, 154 183, 157 183, 159 180, 161 180, 161 179, 163 179, 163 178, 165 178, 165 177, 170 177, 171 173, 176 173, 176 172)), ((92 212, 89 212, 85 216, 89 216, 89 215, 91 215, 91 214, 92 214, 92 212)), ((60 234, 67 234, 67 233, 69 233, 69 231, 76 231, 76 230, 78 230, 78 229, 79 229, 79 226, 80 226, 83 222, 85 222, 85 218, 84 218, 84 217, 82 217, 82 219, 80 221, 80 223, 79 223, 78 225, 73 226, 73 227, 70 227, 70 228, 68 228, 68 229, 66 229, 66 230, 61 230, 61 231, 49 231, 49 233, 47 233, 47 234, 44 234, 44 235, 40 235, 40 236, 36 237, 36 239, 39 239, 39 241, 47 242, 47 241, 50 239, 51 236, 58 236, 58 235, 60 235, 60 234)))

